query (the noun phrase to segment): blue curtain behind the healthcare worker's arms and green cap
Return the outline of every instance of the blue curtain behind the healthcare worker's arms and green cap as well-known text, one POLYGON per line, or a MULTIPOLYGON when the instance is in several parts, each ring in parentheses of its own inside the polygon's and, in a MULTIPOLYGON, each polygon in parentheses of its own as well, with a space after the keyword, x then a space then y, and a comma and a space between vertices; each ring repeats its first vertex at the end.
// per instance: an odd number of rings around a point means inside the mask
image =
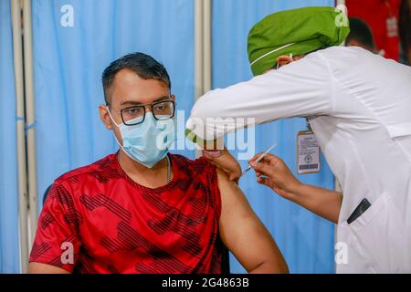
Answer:
MULTIPOLYGON (((248 80, 247 36, 249 29, 264 16, 281 10, 308 5, 334 5, 334 1, 272 1, 272 0, 215 0, 213 1, 213 87, 248 80)), ((297 84, 296 84, 297 86, 297 84)), ((274 142, 273 151, 291 170, 296 169, 296 137, 305 130, 302 119, 279 120, 256 130, 256 151, 265 151, 274 142)), ((298 176, 304 183, 333 188, 333 176, 322 159, 319 174, 298 176)), ((241 162, 247 167, 247 162, 241 162)), ((255 175, 248 172, 240 186, 248 201, 270 233, 274 235, 292 273, 333 273, 333 224, 285 201, 268 188, 258 185, 255 175)), ((242 273, 244 269, 231 256, 231 270, 242 273)))

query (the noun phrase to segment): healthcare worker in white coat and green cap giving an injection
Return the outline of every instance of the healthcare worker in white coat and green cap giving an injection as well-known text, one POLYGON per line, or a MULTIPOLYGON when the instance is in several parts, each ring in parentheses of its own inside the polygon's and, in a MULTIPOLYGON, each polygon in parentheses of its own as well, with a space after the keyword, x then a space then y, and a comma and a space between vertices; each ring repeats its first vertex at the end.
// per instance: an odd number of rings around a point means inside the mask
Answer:
MULTIPOLYGON (((411 272, 411 68, 337 47, 348 33, 346 16, 333 7, 265 17, 248 35, 255 77, 198 99, 188 136, 210 141, 306 117, 342 186, 336 248, 345 254, 336 256, 337 272, 411 272)), ((261 170, 273 182, 281 176, 261 170)))

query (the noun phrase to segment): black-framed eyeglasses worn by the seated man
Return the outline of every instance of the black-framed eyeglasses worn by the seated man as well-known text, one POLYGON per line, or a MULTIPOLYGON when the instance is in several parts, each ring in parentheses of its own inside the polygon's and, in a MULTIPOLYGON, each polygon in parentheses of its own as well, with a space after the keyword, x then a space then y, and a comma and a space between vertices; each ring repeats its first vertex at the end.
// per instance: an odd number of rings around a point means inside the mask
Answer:
MULTIPOLYGON (((107 103, 107 105, 109 106, 110 104, 107 103)), ((145 119, 145 109, 147 107, 150 107, 149 109, 153 112, 155 120, 169 120, 174 117, 175 102, 173 100, 161 100, 120 110, 121 120, 124 125, 134 126, 141 124, 145 119)))

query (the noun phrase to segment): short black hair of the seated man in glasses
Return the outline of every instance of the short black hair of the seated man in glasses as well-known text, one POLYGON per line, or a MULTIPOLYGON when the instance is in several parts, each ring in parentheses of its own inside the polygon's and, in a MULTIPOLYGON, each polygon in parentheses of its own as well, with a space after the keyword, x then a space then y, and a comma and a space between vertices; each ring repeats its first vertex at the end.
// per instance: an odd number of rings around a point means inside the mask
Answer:
POLYGON ((101 80, 104 89, 104 99, 107 104, 109 104, 110 99, 107 96, 107 89, 111 87, 116 74, 125 68, 132 70, 140 78, 159 80, 164 86, 171 89, 170 77, 163 64, 149 55, 136 52, 111 62, 109 67, 104 69, 101 80))

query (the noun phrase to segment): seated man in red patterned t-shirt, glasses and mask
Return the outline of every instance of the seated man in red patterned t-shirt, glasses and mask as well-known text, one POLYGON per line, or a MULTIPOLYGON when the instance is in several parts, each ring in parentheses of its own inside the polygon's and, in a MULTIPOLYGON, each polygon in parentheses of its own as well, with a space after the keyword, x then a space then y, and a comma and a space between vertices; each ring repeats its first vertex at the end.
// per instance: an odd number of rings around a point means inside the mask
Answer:
POLYGON ((121 149, 53 183, 30 273, 221 273, 224 245, 248 272, 288 272, 236 183, 168 153, 175 98, 163 65, 131 54, 102 83, 100 118, 121 149))

